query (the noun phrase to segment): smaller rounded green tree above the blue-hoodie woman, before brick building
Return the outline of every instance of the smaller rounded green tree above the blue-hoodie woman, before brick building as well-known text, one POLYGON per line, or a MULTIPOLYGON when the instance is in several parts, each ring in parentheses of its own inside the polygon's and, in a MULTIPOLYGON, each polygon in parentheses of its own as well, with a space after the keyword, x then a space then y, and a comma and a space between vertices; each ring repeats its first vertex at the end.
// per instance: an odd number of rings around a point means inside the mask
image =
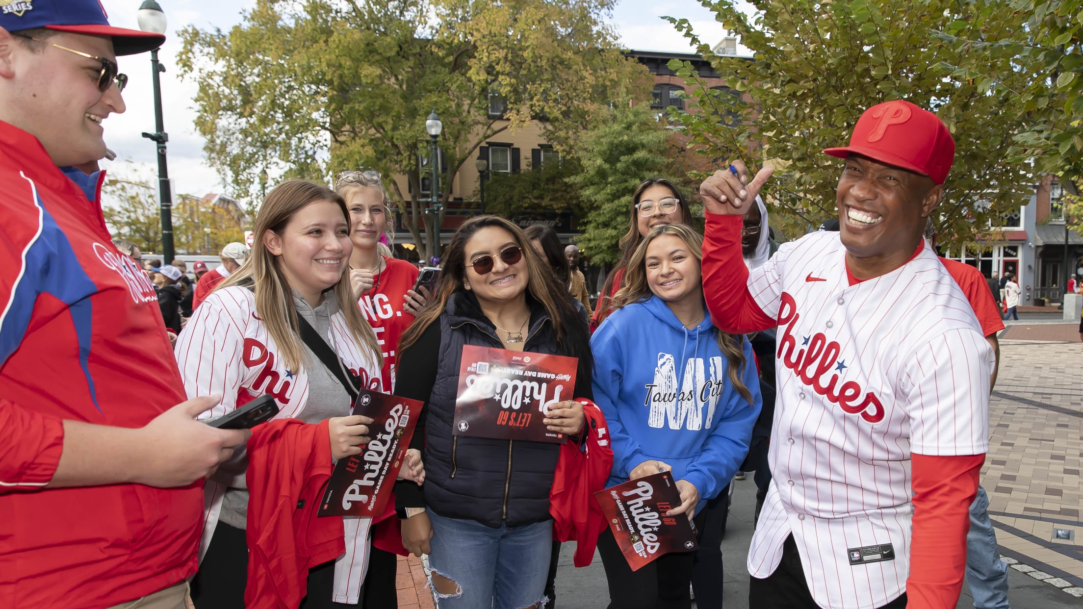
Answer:
POLYGON ((615 104, 597 116, 579 150, 583 170, 569 178, 590 205, 577 245, 591 263, 621 260, 631 194, 645 178, 671 176, 668 150, 665 126, 645 103, 615 104))

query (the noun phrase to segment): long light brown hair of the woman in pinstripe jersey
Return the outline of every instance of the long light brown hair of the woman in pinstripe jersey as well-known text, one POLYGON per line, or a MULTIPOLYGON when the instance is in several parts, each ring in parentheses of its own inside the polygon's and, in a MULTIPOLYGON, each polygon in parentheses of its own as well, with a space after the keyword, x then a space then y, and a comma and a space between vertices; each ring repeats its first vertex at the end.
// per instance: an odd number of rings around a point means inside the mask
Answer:
MULTIPOLYGON (((282 359, 292 371, 300 371, 304 364, 304 347, 297 331, 297 308, 293 307, 293 296, 289 282, 275 255, 263 245, 263 235, 268 231, 282 235, 295 213, 317 200, 329 200, 342 209, 347 223, 350 212, 345 202, 335 191, 323 184, 308 180, 287 180, 268 193, 256 216, 256 241, 248 260, 234 271, 219 288, 231 285, 253 285, 256 291, 256 313, 262 318, 263 325, 278 346, 282 359)), ((345 315, 345 324, 357 345, 373 355, 377 366, 382 364, 379 344, 371 326, 361 316, 357 308, 357 297, 350 287, 348 264, 343 264, 342 276, 332 287, 339 309, 345 315)))

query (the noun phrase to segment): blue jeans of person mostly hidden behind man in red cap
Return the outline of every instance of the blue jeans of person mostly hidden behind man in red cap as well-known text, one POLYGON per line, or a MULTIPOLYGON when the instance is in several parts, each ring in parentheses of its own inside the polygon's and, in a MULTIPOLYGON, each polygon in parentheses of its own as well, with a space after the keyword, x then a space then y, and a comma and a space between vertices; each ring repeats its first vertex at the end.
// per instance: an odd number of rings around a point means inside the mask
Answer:
POLYGON ((978 609, 1008 609, 1008 566, 1001 560, 996 533, 989 519, 989 495, 980 485, 970 504, 966 534, 966 581, 978 609))

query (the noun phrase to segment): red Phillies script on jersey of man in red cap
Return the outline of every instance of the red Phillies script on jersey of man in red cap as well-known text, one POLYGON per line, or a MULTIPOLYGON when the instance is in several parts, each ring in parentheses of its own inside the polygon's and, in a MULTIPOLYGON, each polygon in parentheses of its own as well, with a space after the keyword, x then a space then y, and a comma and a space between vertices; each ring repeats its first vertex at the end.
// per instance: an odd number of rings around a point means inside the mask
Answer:
POLYGON ((826 398, 831 403, 838 404, 843 412, 861 413, 861 418, 869 423, 883 420, 884 406, 872 391, 864 393, 861 385, 853 380, 847 380, 841 387, 836 388, 839 380, 838 374, 831 375, 831 378, 824 383, 824 375, 832 368, 841 372, 846 367, 838 362, 841 349, 837 341, 828 341, 822 332, 817 333, 811 338, 805 338, 803 345, 807 348, 798 349, 797 338, 792 331, 800 316, 794 297, 783 291, 782 306, 779 308, 779 326, 786 326, 786 331, 779 337, 779 361, 794 371, 794 374, 813 391, 826 398), (864 393, 863 398, 862 393, 864 393))

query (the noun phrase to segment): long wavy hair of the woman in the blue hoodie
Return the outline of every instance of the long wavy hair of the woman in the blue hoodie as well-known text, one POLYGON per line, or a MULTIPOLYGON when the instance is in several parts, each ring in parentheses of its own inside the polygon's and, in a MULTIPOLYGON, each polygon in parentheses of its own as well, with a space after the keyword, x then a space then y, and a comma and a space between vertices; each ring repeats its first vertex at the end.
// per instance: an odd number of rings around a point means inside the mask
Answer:
MULTIPOLYGON (((631 254, 631 260, 628 262, 628 267, 624 273, 624 287, 613 295, 614 310, 625 304, 647 300, 652 296, 651 287, 647 283, 647 247, 651 245, 652 241, 662 235, 673 235, 681 239, 692 256, 699 262, 703 262, 703 237, 692 226, 688 224, 663 224, 662 226, 655 226, 643 237, 639 246, 631 254)), ((745 365, 747 365, 744 351, 742 350, 744 337, 725 333, 717 327, 715 328, 715 335, 718 339, 718 349, 721 350, 722 354, 729 361, 727 367, 729 368, 730 383, 733 384, 733 388, 736 389, 742 398, 752 403, 752 393, 741 380, 741 375, 744 374, 745 365)))

